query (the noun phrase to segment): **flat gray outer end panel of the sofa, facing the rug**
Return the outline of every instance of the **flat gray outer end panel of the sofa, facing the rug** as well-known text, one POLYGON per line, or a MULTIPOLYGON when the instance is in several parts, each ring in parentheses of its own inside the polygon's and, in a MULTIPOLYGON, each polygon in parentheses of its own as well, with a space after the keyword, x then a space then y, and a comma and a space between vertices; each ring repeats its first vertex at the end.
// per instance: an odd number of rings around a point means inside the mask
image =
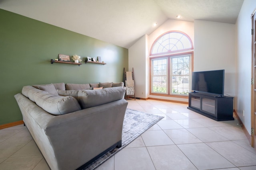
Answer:
POLYGON ((53 117, 45 133, 60 169, 76 169, 122 140, 124 99, 53 117))

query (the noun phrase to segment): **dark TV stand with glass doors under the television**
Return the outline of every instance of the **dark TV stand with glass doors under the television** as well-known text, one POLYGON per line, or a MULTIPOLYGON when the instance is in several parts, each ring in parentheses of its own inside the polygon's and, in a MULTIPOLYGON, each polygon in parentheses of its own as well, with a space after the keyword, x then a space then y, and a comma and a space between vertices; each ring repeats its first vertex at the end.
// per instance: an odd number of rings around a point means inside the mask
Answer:
POLYGON ((188 109, 216 121, 234 120, 233 97, 200 92, 190 92, 188 96, 188 109))

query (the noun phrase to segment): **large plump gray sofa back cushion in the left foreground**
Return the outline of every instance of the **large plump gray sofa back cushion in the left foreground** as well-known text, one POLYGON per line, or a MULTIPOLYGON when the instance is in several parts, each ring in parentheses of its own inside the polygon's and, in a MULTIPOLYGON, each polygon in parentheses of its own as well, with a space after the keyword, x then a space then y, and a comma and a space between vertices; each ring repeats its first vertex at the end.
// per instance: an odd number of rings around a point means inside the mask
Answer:
POLYGON ((35 94, 34 100, 39 107, 52 115, 64 115, 81 110, 78 101, 72 96, 58 96, 41 91, 35 94))

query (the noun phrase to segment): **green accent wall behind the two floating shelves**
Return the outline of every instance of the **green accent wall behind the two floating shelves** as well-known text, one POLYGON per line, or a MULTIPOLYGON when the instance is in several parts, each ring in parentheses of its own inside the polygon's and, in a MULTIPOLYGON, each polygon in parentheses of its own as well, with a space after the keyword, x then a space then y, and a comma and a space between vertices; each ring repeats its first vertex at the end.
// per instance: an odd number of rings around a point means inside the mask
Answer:
POLYGON ((14 95, 23 86, 122 82, 128 70, 126 48, 2 9, 0 24, 0 125, 22 120, 14 95), (51 64, 58 54, 80 55, 82 65, 51 64), (86 64, 87 56, 107 64, 86 64))

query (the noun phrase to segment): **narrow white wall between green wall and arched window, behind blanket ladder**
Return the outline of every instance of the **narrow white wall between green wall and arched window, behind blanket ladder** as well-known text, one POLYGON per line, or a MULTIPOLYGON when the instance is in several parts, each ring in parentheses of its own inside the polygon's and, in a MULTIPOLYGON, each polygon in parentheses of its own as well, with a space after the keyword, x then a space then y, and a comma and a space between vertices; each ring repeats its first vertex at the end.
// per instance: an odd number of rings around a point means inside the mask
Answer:
POLYGON ((135 96, 148 98, 148 35, 142 36, 128 49, 128 67, 134 69, 135 96))

